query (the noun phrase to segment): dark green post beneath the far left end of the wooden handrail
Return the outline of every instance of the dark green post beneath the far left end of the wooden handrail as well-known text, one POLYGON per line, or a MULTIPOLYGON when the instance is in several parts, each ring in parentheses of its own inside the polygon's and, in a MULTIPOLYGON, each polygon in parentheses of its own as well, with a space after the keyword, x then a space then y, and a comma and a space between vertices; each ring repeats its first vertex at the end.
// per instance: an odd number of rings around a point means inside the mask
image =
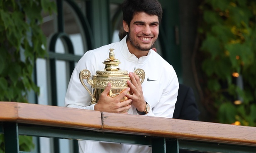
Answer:
POLYGON ((4 122, 5 153, 19 153, 19 132, 17 123, 4 122))

